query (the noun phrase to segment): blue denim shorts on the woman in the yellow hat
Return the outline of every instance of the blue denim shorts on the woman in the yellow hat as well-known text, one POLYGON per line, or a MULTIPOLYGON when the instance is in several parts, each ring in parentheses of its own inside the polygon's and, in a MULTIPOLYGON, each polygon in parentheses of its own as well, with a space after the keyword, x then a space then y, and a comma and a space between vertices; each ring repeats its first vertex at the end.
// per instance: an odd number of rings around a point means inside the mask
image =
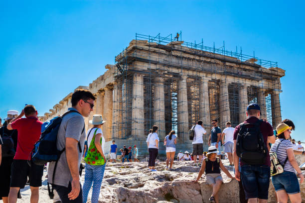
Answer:
POLYGON ((289 195, 301 192, 298 177, 294 172, 284 171, 281 174, 273 176, 272 184, 276 192, 285 190, 289 195))

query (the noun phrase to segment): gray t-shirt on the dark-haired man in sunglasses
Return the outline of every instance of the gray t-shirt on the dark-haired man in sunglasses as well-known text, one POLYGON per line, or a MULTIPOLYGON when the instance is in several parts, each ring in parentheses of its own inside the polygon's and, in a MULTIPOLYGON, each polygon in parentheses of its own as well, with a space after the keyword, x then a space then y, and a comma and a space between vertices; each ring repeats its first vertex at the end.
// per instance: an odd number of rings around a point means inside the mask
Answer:
MULTIPOLYGON (((76 110, 75 108, 68 108, 68 110, 76 110)), ((84 143, 86 131, 82 131, 84 128, 85 122, 84 117, 77 113, 72 112, 65 115, 61 121, 61 124, 58 129, 57 134, 57 149, 62 150, 66 147, 66 138, 73 138, 80 142, 81 151, 84 151, 84 143), (83 132, 83 133, 82 133, 83 132)), ((81 163, 82 152, 78 150, 78 168, 81 163)), ((52 183, 53 170, 54 170, 55 162, 51 162, 48 168, 48 182, 51 184, 55 184, 58 186, 68 187, 69 182, 72 181, 72 176, 68 167, 66 151, 64 151, 57 163, 54 183, 52 183)))

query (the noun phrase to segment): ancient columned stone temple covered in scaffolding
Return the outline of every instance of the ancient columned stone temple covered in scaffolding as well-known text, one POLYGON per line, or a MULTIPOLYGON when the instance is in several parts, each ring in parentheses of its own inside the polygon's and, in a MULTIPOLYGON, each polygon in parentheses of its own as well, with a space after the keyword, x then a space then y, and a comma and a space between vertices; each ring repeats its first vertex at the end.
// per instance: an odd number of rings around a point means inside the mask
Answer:
MULTIPOLYGON (((145 142, 152 125, 160 140, 175 130, 178 143, 190 143, 187 133, 201 119, 208 130, 211 119, 223 129, 246 118, 251 102, 261 106, 262 118, 275 128, 281 122, 281 77, 285 70, 276 62, 242 53, 173 41, 171 37, 136 34, 129 46, 106 65, 103 75, 86 89, 96 96, 93 114, 107 121, 104 137, 145 142)), ((71 106, 70 93, 41 116, 43 121, 62 115, 71 106)))

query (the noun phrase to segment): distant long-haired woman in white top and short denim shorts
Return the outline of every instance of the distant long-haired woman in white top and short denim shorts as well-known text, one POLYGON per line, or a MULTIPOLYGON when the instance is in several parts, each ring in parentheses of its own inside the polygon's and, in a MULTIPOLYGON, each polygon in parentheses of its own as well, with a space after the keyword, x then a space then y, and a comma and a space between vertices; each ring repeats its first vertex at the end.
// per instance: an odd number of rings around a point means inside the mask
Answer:
POLYGON ((177 136, 174 130, 171 130, 164 138, 164 145, 166 146, 166 169, 171 169, 176 152, 177 136))

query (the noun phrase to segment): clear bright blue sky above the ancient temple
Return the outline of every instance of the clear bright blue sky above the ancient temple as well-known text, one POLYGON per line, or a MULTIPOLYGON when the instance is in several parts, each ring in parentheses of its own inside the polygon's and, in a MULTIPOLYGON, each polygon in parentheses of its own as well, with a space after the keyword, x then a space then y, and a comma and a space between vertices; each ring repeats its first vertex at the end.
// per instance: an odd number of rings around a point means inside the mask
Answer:
POLYGON ((277 61, 283 118, 304 140, 303 1, 0 1, 0 117, 32 103, 42 115, 135 38, 182 31, 182 40, 277 61))

